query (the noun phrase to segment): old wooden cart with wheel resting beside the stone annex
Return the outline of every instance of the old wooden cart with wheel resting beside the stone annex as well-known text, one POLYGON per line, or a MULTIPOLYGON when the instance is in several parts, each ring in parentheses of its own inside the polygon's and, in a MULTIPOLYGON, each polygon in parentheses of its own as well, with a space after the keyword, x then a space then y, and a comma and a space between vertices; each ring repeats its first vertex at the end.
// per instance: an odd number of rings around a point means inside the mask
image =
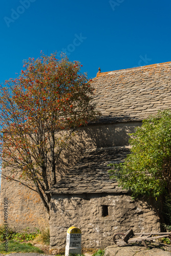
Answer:
POLYGON ((146 248, 148 248, 145 241, 166 237, 168 237, 171 241, 171 232, 134 233, 133 229, 131 229, 126 233, 116 233, 113 237, 113 240, 114 243, 118 246, 141 242, 146 248))

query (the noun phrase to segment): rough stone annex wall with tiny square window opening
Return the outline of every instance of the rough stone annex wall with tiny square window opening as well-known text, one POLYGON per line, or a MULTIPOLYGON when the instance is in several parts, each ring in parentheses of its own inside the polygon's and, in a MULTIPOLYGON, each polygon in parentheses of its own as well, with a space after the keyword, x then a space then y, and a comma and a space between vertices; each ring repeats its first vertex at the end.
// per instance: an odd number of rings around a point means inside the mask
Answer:
POLYGON ((155 212, 128 194, 52 194, 50 248, 66 246, 67 229, 75 226, 82 231, 82 247, 105 248, 113 245, 117 232, 160 231, 155 212), (108 215, 106 214, 108 208, 108 215), (104 211, 105 209, 105 211, 104 211))

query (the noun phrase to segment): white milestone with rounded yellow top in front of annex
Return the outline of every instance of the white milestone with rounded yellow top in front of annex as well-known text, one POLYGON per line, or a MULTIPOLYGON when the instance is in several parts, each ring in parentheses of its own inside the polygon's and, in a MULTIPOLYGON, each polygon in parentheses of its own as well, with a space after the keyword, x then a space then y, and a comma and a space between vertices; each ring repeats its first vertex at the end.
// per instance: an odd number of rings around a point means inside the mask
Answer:
POLYGON ((70 253, 81 254, 81 230, 77 227, 70 227, 67 230, 66 255, 70 253))

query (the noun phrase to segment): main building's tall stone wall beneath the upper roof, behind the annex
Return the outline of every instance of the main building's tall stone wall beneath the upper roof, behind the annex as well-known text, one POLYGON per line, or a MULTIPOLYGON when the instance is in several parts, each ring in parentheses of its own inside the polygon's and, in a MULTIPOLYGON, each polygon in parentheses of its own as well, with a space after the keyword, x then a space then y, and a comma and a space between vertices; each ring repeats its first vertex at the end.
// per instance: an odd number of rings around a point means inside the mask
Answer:
MULTIPOLYGON (((76 136, 70 142, 70 147, 63 152, 58 167, 61 174, 79 161, 82 152, 94 147, 120 146, 127 145, 130 138, 129 133, 135 131, 135 127, 140 126, 141 122, 126 122, 113 124, 93 124, 87 127, 80 127, 76 136)), ((8 172, 4 169, 3 172, 8 172)), ((60 179, 60 176, 58 177, 60 179)), ((16 231, 23 231, 24 228, 41 228, 42 223, 48 224, 48 215, 39 196, 34 191, 29 190, 22 184, 7 182, 2 178, 1 181, 1 224, 3 218, 3 200, 9 198, 9 226, 15 227, 16 231)))

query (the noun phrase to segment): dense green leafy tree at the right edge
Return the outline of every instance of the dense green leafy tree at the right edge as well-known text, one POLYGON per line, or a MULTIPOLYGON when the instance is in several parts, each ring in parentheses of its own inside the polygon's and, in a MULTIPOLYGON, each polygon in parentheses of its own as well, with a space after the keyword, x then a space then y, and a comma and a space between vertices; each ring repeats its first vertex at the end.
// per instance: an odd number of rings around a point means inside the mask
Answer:
POLYGON ((171 111, 159 111, 131 134, 131 154, 123 163, 110 164, 111 178, 131 191, 134 198, 149 201, 160 223, 171 224, 171 111))

